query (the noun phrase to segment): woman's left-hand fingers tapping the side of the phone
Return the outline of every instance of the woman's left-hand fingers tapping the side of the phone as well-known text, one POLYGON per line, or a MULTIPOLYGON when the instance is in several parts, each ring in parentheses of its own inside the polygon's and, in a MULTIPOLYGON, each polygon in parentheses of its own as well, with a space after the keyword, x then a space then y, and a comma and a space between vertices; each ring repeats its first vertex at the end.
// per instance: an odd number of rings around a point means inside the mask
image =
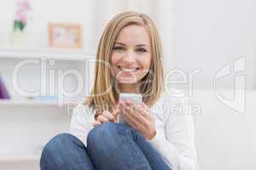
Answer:
POLYGON ((96 127, 97 125, 102 124, 103 122, 117 122, 118 110, 113 111, 113 114, 109 111, 103 111, 101 115, 96 117, 95 122, 92 122, 92 125, 96 127))

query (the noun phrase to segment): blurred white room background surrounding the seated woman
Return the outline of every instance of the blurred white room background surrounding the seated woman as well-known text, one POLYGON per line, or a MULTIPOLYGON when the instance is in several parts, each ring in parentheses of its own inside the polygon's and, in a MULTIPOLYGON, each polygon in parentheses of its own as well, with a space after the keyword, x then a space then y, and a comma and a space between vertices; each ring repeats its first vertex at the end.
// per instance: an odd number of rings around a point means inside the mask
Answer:
POLYGON ((253 0, 2 0, 0 169, 38 169, 93 81, 108 21, 148 14, 160 31, 166 92, 189 99, 202 170, 256 167, 253 0), (172 90, 178 88, 179 92, 172 90))

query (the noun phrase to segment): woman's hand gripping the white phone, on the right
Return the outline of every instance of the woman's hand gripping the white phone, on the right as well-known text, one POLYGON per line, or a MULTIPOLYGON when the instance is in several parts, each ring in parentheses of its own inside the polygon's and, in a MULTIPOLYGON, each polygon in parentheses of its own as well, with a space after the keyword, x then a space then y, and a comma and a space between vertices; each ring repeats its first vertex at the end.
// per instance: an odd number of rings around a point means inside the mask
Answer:
POLYGON ((146 139, 152 139, 156 134, 154 116, 144 103, 136 104, 132 101, 120 102, 120 111, 125 122, 142 133, 146 139))

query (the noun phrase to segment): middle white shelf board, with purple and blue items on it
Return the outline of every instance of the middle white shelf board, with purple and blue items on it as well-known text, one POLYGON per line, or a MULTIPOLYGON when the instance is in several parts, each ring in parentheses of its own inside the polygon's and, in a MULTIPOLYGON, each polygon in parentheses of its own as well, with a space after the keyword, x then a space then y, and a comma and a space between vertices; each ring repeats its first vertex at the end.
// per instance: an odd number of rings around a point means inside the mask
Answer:
MULTIPOLYGON (((14 99, 0 99, 0 106, 59 106, 56 101, 38 101, 38 100, 14 100, 14 99)), ((64 104, 67 105, 67 104, 64 104)))

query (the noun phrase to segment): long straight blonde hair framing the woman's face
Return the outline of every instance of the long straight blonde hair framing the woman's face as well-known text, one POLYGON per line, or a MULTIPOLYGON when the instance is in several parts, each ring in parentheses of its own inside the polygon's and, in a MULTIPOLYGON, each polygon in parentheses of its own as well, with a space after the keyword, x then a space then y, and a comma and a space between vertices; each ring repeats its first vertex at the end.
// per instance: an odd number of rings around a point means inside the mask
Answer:
POLYGON ((102 111, 113 111, 113 107, 119 100, 119 94, 115 88, 115 80, 111 74, 111 55, 113 44, 119 32, 130 25, 145 26, 151 39, 152 60, 148 74, 140 82, 140 94, 143 95, 143 102, 149 107, 160 98, 163 91, 163 67, 162 49, 160 36, 151 20, 146 14, 137 12, 124 12, 117 14, 109 21, 108 26, 102 33, 101 40, 96 52, 95 81, 90 95, 85 99, 84 104, 96 109, 96 116, 102 111))

